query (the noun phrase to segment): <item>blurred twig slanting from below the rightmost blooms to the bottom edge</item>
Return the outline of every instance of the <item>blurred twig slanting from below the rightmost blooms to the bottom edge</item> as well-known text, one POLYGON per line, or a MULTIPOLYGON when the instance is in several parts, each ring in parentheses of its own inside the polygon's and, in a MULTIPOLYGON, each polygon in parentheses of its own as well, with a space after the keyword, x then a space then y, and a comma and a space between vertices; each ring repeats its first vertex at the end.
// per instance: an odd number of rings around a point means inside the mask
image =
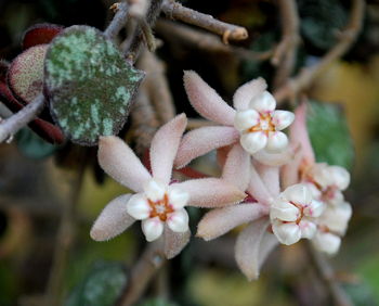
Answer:
POLYGON ((318 277, 327 286, 336 306, 353 306, 351 298, 336 281, 336 273, 323 254, 315 251, 310 243, 305 243, 306 252, 318 273, 318 277))

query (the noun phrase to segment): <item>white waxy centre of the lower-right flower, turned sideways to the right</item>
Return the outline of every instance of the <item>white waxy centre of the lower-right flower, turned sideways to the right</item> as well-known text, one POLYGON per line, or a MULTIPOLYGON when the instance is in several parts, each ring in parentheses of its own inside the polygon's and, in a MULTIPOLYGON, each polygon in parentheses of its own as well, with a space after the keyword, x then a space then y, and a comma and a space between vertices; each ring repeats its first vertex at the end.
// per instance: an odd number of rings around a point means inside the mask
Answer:
POLYGON ((293 244, 301 238, 312 239, 316 233, 316 218, 323 214, 324 203, 312 199, 305 184, 287 188, 270 209, 273 232, 283 244, 293 244))

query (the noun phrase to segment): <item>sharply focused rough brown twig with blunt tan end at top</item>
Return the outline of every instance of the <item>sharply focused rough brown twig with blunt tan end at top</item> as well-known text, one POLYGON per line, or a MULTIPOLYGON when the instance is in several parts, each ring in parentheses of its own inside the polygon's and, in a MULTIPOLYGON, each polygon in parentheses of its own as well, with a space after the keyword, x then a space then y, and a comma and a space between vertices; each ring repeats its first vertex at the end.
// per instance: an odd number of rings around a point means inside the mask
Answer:
POLYGON ((244 40, 248 38, 245 27, 218 21, 211 15, 185 8, 175 1, 165 0, 161 10, 172 20, 179 20, 222 36, 224 43, 227 43, 228 40, 244 40))

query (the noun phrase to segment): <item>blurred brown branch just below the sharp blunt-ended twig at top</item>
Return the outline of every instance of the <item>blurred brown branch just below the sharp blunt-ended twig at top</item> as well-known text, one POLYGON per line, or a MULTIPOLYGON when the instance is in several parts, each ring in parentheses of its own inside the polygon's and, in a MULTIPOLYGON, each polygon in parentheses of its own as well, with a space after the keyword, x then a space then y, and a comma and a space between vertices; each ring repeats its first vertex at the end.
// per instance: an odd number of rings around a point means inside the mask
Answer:
POLYGON ((240 60, 247 61, 263 61, 272 56, 272 51, 269 52, 252 52, 245 48, 224 44, 220 39, 209 33, 196 30, 185 25, 158 20, 155 25, 155 30, 166 40, 179 42, 185 47, 200 49, 206 52, 219 52, 234 55, 240 60))

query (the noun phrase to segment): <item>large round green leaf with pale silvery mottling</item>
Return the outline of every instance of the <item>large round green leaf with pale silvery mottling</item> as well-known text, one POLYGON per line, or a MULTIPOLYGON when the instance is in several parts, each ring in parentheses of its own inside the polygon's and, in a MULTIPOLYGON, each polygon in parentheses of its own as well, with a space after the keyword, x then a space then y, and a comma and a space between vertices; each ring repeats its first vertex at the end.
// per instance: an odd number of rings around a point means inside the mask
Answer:
POLYGON ((73 142, 83 145, 118 133, 143 76, 103 33, 88 26, 63 30, 44 62, 52 116, 73 142))

